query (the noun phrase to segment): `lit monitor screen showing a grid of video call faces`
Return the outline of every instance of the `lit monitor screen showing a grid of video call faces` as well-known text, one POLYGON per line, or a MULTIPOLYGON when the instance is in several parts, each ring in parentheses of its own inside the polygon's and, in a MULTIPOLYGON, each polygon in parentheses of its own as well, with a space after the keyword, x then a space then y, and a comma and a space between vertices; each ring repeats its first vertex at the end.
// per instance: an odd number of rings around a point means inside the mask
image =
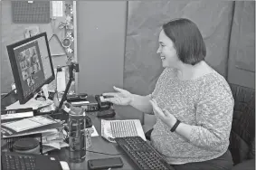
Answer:
POLYGON ((52 76, 51 61, 44 37, 14 48, 24 97, 52 76))

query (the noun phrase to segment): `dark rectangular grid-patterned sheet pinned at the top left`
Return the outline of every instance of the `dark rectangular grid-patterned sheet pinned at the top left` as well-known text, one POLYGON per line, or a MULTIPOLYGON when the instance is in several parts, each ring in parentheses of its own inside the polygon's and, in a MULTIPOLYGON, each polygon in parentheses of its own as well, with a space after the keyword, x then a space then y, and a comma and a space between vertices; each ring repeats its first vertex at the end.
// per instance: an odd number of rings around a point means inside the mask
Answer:
POLYGON ((51 21, 49 1, 12 1, 14 24, 48 24, 51 21))

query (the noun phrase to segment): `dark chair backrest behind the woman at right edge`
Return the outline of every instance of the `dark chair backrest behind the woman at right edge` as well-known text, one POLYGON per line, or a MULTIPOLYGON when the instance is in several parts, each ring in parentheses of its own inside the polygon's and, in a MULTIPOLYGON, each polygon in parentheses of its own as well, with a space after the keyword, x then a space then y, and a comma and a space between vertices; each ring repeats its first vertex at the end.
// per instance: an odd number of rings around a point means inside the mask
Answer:
POLYGON ((230 86, 234 109, 229 149, 236 165, 255 156, 255 90, 235 84, 230 86))

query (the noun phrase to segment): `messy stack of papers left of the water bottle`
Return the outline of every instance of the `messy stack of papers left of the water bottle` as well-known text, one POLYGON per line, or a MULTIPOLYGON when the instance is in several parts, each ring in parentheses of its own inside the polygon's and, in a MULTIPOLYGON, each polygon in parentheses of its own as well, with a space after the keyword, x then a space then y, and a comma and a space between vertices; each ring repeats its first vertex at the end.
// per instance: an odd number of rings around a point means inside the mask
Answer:
POLYGON ((1 124, 3 138, 42 134, 43 153, 68 146, 63 142, 62 123, 48 116, 23 118, 1 124))

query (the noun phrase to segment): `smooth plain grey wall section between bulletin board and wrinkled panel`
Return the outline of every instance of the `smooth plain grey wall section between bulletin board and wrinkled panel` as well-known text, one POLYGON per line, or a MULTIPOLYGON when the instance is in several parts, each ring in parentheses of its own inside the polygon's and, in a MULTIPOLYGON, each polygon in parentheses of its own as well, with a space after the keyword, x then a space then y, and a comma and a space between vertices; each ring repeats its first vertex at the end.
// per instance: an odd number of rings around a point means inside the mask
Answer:
POLYGON ((126 13, 126 2, 77 2, 79 92, 122 88, 126 13))

